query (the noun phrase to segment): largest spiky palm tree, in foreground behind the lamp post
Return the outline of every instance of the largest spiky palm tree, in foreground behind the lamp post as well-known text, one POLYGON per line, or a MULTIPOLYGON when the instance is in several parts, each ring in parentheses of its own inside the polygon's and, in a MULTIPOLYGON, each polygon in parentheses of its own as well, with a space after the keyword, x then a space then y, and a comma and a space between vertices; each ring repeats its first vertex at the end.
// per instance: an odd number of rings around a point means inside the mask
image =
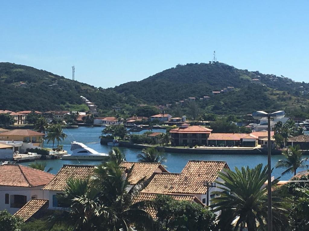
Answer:
MULTIPOLYGON (((262 167, 262 164, 252 169, 235 167, 235 172, 226 169, 218 173, 222 181, 216 181, 217 188, 222 191, 214 192, 218 197, 212 199, 211 207, 214 212, 222 211, 218 216, 221 223, 238 219, 235 231, 243 230, 245 225, 248 231, 256 231, 257 224, 263 230, 267 223, 267 187, 263 187, 267 166, 262 167)), ((273 193, 273 230, 284 230, 288 226, 287 214, 284 199, 273 193)))

